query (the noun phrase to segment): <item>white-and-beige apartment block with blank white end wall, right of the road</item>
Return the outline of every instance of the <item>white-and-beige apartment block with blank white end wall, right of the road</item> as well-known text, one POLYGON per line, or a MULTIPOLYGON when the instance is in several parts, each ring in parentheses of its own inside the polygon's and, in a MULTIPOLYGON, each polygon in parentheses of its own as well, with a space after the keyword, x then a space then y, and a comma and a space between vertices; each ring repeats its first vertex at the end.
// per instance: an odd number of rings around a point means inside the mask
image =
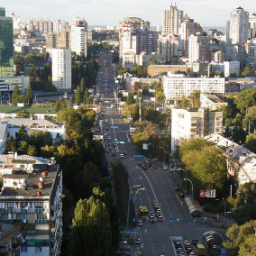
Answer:
POLYGON ((171 152, 182 140, 204 137, 209 133, 222 133, 223 113, 199 108, 197 111, 171 109, 171 152))

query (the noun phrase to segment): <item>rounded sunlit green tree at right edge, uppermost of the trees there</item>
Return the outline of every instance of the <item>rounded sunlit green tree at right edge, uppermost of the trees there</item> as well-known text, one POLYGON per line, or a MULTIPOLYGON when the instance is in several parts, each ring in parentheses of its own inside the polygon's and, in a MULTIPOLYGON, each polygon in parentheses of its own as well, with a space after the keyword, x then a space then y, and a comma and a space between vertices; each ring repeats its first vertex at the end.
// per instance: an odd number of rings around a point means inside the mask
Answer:
POLYGON ((244 89, 234 99, 236 107, 242 114, 246 113, 246 109, 256 105, 256 88, 244 89))

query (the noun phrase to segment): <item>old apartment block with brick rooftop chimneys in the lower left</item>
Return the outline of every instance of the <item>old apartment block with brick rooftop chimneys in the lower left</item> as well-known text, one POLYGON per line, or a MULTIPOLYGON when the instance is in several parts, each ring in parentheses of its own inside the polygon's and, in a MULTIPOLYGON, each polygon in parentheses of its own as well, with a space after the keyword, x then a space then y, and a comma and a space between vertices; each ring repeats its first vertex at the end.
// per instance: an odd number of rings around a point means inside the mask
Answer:
POLYGON ((0 155, 0 222, 22 224, 21 256, 60 256, 62 170, 55 160, 0 155))

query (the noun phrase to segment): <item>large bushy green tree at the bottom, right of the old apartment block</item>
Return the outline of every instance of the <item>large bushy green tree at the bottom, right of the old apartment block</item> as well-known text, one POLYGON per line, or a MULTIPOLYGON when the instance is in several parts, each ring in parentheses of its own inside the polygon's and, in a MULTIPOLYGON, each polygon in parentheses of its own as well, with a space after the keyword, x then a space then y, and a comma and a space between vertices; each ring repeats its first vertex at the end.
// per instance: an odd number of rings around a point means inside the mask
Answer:
POLYGON ((94 188, 92 197, 78 201, 71 226, 70 256, 113 255, 111 225, 104 197, 104 192, 94 188))

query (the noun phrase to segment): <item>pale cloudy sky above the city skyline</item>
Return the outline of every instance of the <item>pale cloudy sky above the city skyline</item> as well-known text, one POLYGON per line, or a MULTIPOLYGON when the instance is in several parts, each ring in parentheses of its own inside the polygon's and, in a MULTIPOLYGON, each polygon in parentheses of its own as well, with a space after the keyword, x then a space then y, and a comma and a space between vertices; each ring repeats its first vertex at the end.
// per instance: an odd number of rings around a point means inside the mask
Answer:
POLYGON ((6 16, 14 13, 23 23, 32 17, 70 23, 72 15, 77 15, 88 25, 114 26, 132 16, 157 26, 171 3, 202 27, 225 27, 230 13, 239 6, 250 15, 256 13, 255 0, 0 0, 6 16))

